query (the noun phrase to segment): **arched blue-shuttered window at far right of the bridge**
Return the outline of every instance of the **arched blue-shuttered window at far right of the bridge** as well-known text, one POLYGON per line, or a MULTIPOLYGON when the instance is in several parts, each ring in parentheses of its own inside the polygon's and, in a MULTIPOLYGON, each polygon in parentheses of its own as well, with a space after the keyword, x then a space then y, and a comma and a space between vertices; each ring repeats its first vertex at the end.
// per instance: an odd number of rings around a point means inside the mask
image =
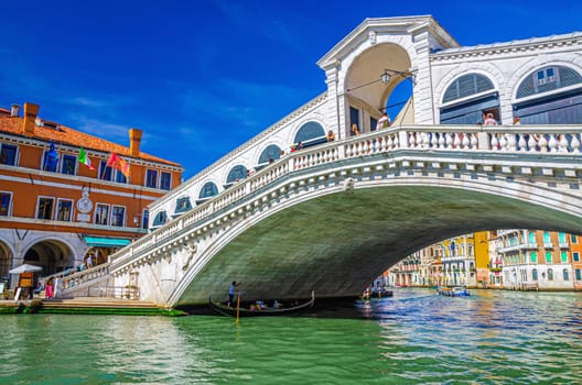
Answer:
POLYGON ((546 66, 519 84, 514 116, 521 124, 582 123, 582 76, 564 66, 546 66))

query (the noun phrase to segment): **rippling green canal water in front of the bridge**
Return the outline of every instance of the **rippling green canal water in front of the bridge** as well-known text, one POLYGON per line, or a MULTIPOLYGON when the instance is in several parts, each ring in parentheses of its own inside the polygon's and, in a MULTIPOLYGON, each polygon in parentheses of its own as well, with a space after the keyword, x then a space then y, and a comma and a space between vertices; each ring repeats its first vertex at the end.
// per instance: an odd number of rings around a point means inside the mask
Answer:
POLYGON ((582 383, 582 294, 397 289, 292 318, 1 316, 1 384, 582 383))

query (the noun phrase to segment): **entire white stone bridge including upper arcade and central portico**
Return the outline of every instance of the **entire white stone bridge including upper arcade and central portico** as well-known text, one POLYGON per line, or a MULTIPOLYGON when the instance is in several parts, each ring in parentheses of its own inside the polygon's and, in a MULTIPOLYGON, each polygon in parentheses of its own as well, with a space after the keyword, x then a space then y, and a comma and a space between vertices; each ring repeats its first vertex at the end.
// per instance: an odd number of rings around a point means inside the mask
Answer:
POLYGON ((581 233, 581 47, 460 46, 428 15, 366 19, 317 62, 324 92, 150 205, 151 233, 107 273, 164 306, 233 280, 246 298, 352 296, 453 235, 581 233))

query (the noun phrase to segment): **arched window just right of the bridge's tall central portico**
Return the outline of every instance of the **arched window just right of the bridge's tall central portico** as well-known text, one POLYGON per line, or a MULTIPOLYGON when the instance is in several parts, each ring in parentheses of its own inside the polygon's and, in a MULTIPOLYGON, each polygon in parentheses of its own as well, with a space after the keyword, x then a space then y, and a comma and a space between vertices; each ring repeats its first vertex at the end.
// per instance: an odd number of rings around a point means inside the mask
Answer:
POLYGON ((483 123, 488 112, 499 121, 499 94, 493 81, 481 74, 462 75, 444 91, 441 124, 483 123))

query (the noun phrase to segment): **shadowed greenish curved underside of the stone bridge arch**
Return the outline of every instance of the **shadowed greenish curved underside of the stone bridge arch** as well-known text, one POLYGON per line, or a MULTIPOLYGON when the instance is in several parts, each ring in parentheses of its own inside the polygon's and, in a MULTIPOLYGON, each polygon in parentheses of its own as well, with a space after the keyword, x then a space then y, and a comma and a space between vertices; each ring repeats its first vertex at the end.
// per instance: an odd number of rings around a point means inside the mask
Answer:
POLYGON ((357 296, 375 277, 434 242, 479 230, 580 233, 574 216, 493 194, 390 186, 322 196, 250 227, 197 274, 176 305, 225 299, 240 280, 247 299, 357 296), (468 209, 467 209, 468 208, 468 209))

